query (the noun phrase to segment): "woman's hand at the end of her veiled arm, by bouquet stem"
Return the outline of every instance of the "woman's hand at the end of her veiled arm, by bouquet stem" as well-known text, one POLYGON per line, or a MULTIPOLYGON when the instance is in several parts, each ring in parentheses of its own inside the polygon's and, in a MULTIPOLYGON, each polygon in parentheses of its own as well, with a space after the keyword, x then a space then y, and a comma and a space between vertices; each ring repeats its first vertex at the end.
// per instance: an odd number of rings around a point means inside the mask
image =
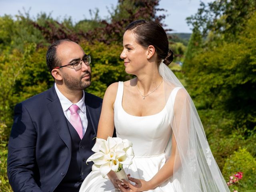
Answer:
POLYGON ((140 191, 147 191, 151 189, 151 183, 148 181, 145 181, 143 179, 132 178, 130 177, 129 174, 128 174, 128 178, 130 181, 134 182, 135 185, 130 184, 126 180, 123 180, 124 184, 128 186, 128 188, 124 188, 123 186, 120 186, 119 188, 122 192, 140 192, 140 191))

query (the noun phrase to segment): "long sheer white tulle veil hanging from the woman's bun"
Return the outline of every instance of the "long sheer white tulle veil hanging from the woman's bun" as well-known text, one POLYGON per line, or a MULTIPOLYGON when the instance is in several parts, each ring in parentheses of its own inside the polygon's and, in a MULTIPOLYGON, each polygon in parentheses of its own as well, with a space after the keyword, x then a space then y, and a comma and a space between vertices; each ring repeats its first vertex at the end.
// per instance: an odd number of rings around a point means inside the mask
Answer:
MULTIPOLYGON (((172 180, 179 181, 183 192, 230 192, 214 160, 192 99, 163 60, 159 73, 164 82, 166 102, 172 90, 181 87, 174 103, 167 106, 177 143, 172 180), (178 110, 174 113, 173 108, 178 110)), ((170 157, 172 150, 170 138, 165 151, 166 159, 170 157)), ((180 188, 176 190, 181 191, 180 188)))

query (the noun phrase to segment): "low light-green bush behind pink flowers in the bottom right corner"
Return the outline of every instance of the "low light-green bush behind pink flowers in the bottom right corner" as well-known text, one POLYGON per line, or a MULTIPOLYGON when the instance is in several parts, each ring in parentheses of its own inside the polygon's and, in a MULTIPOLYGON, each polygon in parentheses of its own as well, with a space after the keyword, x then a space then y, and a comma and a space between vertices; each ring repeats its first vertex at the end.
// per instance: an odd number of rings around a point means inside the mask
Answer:
MULTIPOLYGON (((245 148, 240 148, 227 158, 222 171, 225 180, 228 180, 229 176, 236 172, 244 173, 243 178, 239 181, 239 192, 255 189, 256 160, 245 148)), ((232 186, 230 186, 231 188, 232 186)))

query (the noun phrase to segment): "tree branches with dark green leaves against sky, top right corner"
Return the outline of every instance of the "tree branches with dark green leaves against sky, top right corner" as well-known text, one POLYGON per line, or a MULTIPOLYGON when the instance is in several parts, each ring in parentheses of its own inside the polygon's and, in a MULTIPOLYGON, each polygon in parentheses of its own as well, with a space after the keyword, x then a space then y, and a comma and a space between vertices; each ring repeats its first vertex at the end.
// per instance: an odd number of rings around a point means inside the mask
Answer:
POLYGON ((198 12, 186 20, 203 36, 212 31, 225 34, 225 38, 232 41, 239 36, 247 20, 253 17, 255 9, 255 0, 218 0, 208 4, 201 1, 198 12))

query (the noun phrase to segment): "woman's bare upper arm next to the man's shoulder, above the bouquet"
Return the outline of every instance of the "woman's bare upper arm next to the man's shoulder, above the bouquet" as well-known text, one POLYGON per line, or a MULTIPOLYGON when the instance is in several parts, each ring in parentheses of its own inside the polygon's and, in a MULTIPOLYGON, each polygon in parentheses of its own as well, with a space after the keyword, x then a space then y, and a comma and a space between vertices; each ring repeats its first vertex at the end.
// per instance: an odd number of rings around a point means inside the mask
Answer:
POLYGON ((114 102, 116 100, 118 83, 111 84, 104 95, 97 138, 107 139, 114 133, 114 102))

